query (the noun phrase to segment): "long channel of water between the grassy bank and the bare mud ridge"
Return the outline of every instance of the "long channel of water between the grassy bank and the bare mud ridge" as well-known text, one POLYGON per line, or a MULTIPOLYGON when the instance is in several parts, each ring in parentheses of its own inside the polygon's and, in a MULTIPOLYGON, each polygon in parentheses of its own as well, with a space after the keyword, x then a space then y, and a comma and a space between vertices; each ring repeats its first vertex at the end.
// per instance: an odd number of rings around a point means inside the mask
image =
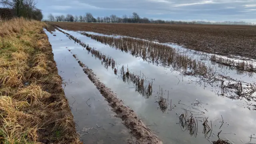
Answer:
MULTIPOLYGON (((84 144, 120 144, 130 137, 129 130, 115 117, 108 102, 84 74, 82 68, 65 48, 70 46, 66 36, 46 31, 52 44, 54 60, 59 75, 63 78, 63 88, 68 98, 77 130, 84 144), (88 104, 88 105, 87 105, 88 104)), ((74 43, 71 43, 74 45, 74 43)))

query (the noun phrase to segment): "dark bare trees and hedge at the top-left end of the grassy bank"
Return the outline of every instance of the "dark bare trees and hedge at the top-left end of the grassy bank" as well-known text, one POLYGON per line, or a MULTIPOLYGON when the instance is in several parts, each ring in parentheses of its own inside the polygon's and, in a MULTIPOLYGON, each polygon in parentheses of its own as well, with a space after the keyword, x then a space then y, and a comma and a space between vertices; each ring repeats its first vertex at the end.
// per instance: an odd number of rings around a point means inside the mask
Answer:
POLYGON ((42 20, 42 10, 36 8, 35 0, 0 0, 4 8, 0 8, 0 19, 8 20, 13 17, 24 17, 42 20))

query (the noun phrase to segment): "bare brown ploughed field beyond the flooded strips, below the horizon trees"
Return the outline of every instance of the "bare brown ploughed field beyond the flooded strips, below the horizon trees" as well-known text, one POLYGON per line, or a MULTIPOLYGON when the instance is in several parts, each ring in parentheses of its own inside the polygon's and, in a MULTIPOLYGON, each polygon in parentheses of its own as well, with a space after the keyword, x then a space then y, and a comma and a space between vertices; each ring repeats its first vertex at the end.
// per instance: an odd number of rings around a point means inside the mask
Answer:
POLYGON ((169 25, 99 24, 50 22, 66 30, 92 31, 172 42, 193 50, 256 59, 256 26, 242 25, 169 25))

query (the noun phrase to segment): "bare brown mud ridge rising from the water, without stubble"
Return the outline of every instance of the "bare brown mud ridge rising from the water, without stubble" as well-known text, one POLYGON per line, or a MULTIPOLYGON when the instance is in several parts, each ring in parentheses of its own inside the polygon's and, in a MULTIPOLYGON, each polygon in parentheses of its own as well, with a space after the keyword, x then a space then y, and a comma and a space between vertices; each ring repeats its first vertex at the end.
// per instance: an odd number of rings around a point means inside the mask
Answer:
POLYGON ((109 105, 113 108, 118 118, 121 118, 123 124, 131 130, 131 134, 137 138, 136 144, 162 144, 162 141, 140 120, 139 116, 128 106, 124 106, 122 100, 117 98, 117 95, 105 86, 100 80, 98 80, 96 74, 92 69, 88 68, 83 64, 75 54, 73 57, 76 58, 79 65, 83 68, 84 73, 94 83, 96 88, 100 91, 102 96, 106 98, 109 105))

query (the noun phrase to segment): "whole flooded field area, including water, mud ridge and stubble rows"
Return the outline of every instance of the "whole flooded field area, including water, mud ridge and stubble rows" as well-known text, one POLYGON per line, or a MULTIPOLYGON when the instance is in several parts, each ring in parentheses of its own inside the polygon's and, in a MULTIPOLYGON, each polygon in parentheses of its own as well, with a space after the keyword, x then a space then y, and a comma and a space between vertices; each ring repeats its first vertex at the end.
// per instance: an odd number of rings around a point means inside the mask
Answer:
POLYGON ((256 142, 253 56, 62 28, 46 34, 84 143, 256 142))

